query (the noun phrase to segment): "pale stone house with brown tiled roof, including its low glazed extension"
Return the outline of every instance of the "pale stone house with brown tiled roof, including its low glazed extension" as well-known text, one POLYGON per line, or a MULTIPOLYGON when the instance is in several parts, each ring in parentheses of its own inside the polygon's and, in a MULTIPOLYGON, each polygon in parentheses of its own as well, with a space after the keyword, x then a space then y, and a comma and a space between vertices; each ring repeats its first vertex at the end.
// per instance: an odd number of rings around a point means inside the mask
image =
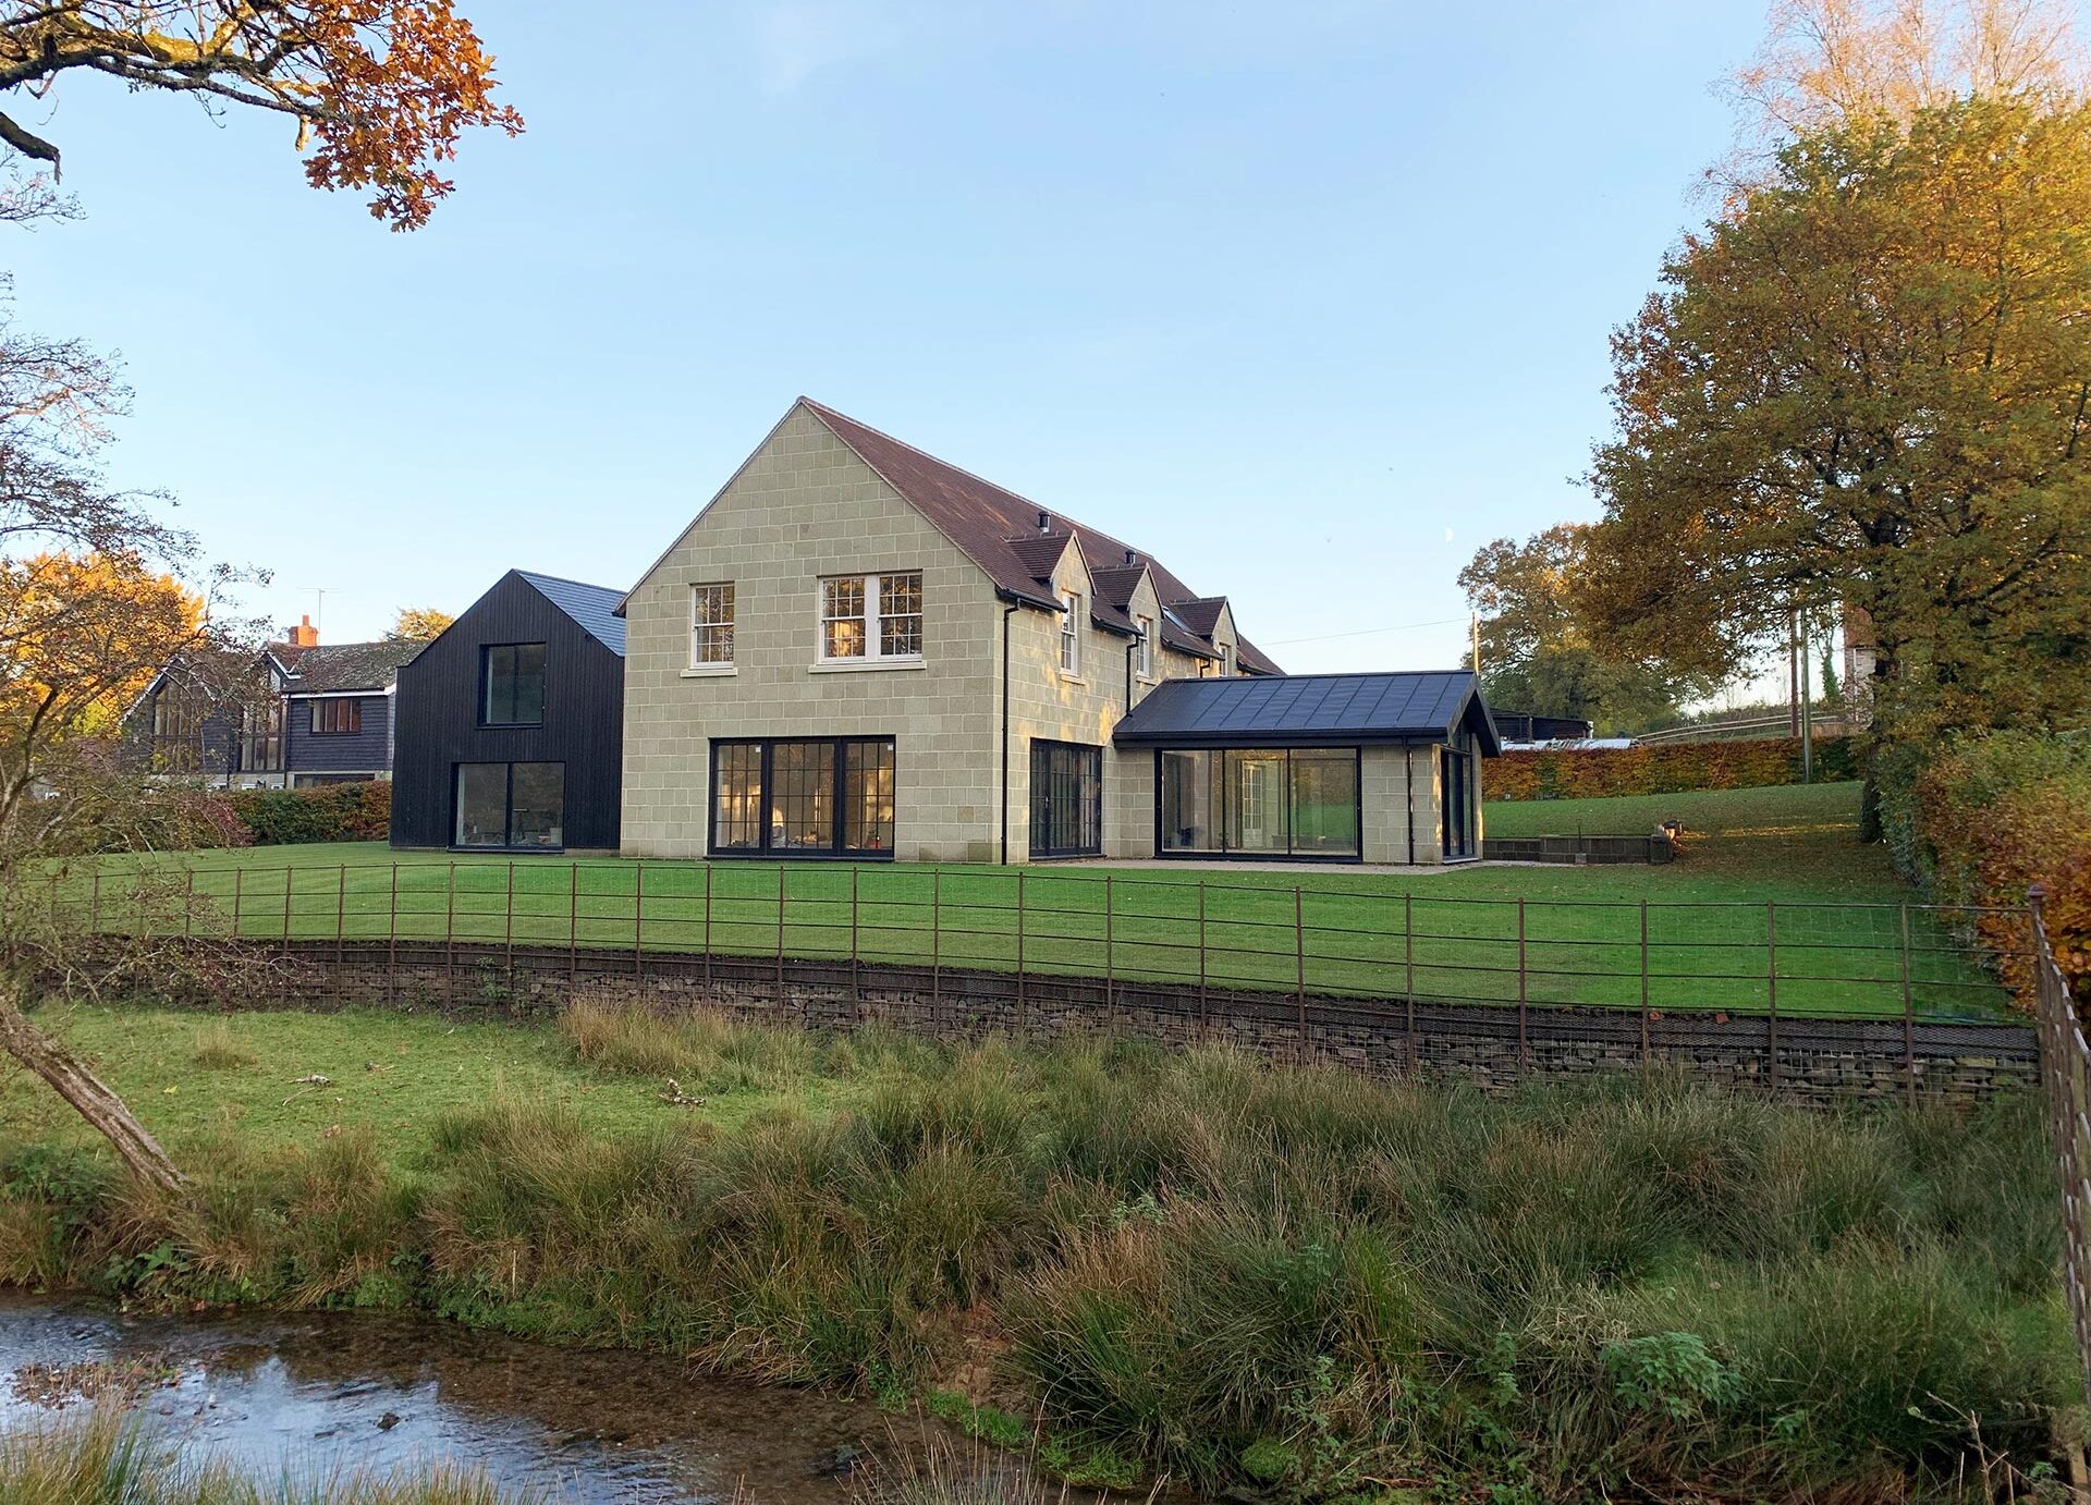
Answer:
POLYGON ((801 397, 625 619, 629 855, 1462 859, 1474 677, 1288 677, 1152 554, 801 397))

